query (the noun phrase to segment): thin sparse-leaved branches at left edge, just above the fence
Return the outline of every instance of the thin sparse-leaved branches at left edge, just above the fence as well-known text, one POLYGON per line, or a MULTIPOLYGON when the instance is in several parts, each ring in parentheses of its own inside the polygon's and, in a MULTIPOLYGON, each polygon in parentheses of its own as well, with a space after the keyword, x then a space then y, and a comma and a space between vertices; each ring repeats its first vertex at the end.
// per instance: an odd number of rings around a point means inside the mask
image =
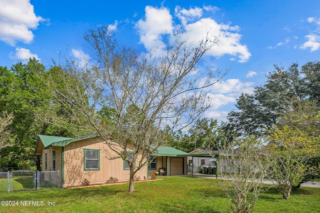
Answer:
POLYGON ((11 131, 9 125, 12 123, 13 114, 2 113, 0 115, 0 149, 13 146, 14 140, 11 140, 11 131))

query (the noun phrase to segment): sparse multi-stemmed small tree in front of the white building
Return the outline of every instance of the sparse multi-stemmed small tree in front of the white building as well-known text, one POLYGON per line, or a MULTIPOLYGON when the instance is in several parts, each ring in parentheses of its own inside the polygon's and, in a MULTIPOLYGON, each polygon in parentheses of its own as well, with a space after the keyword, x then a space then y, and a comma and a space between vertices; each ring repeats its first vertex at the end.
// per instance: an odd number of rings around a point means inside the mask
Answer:
POLYGON ((268 164, 262 149, 261 141, 255 137, 226 139, 225 145, 219 148, 222 190, 233 203, 233 213, 249 213, 263 191, 268 164))

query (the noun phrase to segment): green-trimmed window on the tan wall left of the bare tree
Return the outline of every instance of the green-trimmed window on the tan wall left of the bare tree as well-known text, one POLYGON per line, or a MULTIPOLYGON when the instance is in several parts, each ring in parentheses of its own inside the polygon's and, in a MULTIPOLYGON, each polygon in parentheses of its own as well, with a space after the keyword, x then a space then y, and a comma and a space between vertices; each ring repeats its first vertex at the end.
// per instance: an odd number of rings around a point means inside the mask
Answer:
POLYGON ((100 170, 100 150, 83 149, 83 169, 84 170, 100 170))

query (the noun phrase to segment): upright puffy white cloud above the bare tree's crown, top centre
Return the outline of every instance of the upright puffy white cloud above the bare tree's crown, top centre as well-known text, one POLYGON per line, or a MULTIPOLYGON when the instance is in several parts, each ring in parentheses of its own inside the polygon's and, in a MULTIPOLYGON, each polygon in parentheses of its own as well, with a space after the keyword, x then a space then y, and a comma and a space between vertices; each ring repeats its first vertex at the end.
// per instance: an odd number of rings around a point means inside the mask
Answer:
POLYGON ((147 50, 163 48, 161 35, 171 34, 173 30, 169 9, 146 6, 144 10, 145 20, 140 19, 135 25, 140 34, 140 42, 147 50))

